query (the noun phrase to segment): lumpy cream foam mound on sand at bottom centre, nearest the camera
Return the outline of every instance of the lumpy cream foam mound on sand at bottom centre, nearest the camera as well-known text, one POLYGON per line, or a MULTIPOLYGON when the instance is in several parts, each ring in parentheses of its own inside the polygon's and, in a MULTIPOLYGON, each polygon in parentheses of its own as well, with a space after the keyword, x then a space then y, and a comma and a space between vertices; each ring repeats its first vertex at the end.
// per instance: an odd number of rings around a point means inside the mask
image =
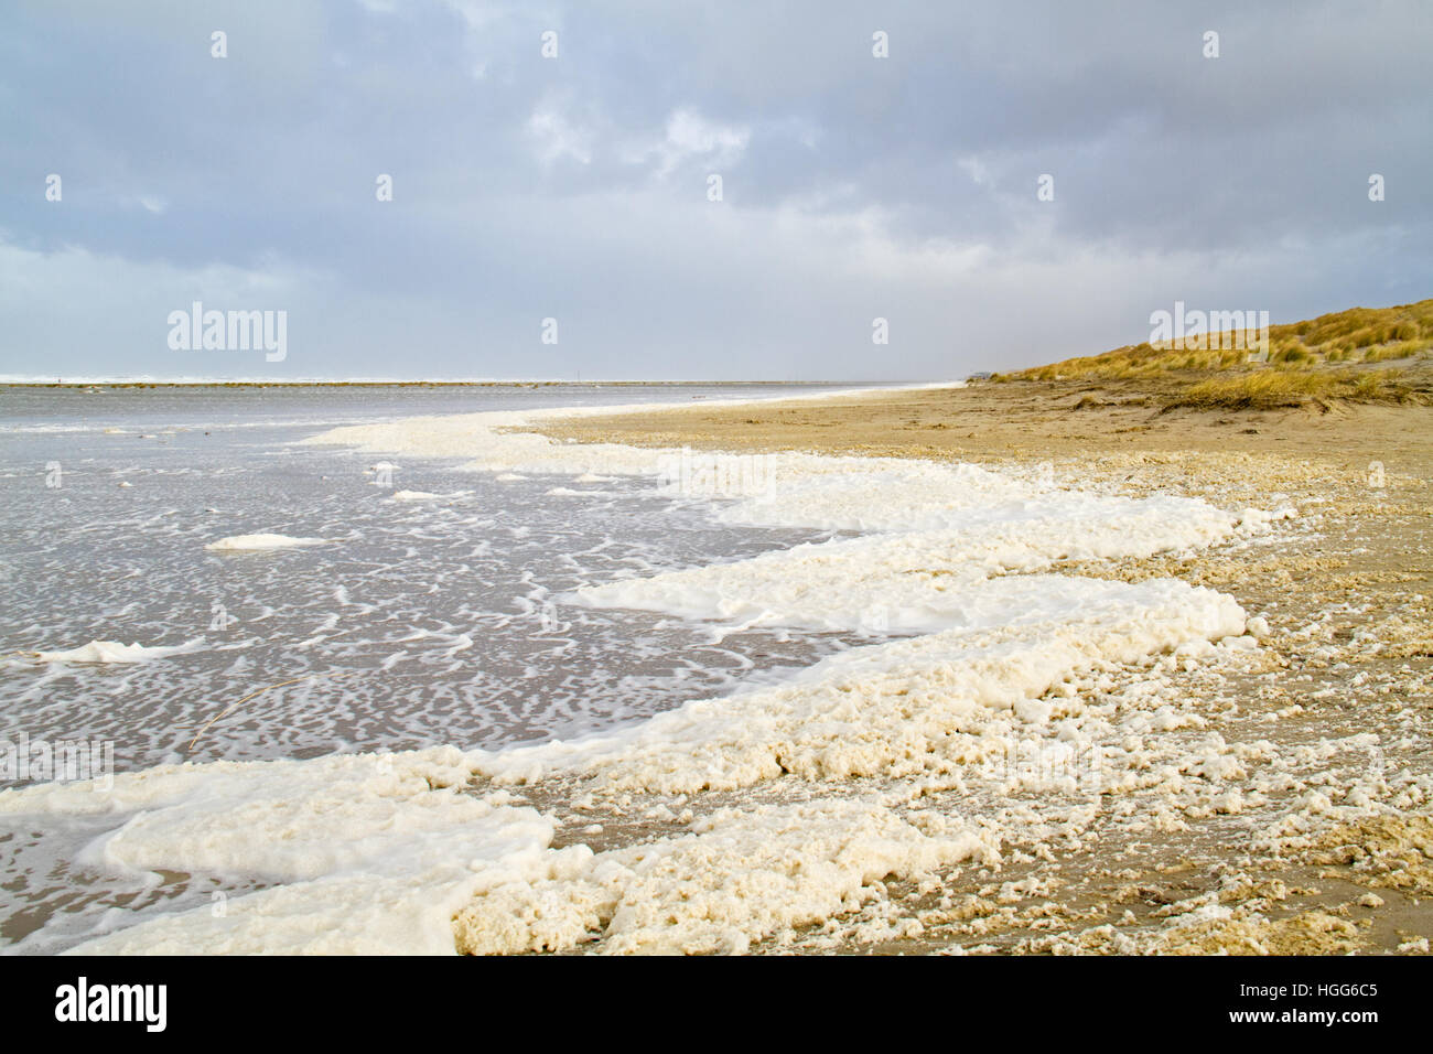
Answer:
POLYGON ((921 819, 840 799, 722 809, 691 835, 573 853, 536 880, 492 886, 459 915, 459 939, 477 954, 560 951, 599 935, 610 954, 741 954, 860 906, 881 879, 999 859, 992 836, 921 819))

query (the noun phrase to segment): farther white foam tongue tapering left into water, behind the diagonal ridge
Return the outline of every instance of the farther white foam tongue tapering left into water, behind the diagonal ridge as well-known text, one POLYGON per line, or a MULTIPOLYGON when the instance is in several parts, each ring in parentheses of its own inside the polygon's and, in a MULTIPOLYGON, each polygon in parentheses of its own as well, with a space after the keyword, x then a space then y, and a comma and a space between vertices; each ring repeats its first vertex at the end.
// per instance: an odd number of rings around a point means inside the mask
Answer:
POLYGON ((986 584, 989 575, 1042 569, 1059 559, 1205 546, 1230 538, 1241 523, 1198 500, 1066 492, 1032 505, 966 511, 960 518, 967 528, 798 545, 734 564, 586 587, 575 599, 744 625, 880 632, 997 627, 1052 617, 1093 587, 1060 576, 986 584))

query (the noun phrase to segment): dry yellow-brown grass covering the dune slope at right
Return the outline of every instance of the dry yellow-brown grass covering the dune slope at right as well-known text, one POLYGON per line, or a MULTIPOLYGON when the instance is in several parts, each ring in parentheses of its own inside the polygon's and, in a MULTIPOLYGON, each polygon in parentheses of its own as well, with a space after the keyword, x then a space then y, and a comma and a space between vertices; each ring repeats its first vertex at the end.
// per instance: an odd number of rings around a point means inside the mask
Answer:
MULTIPOLYGON (((1215 334, 1208 347, 1131 344, 1098 356, 1066 359, 995 380, 1134 380, 1181 371, 1242 366, 1248 351, 1235 334, 1215 334)), ((1268 330, 1268 363, 1277 370, 1313 370, 1328 363, 1380 363, 1427 357, 1433 348, 1433 300, 1400 307, 1354 307, 1268 330)), ((1242 383, 1242 381, 1241 381, 1242 383)), ((1274 381, 1260 386, 1277 389, 1274 381)), ((1295 384, 1297 387, 1297 384, 1295 384)))

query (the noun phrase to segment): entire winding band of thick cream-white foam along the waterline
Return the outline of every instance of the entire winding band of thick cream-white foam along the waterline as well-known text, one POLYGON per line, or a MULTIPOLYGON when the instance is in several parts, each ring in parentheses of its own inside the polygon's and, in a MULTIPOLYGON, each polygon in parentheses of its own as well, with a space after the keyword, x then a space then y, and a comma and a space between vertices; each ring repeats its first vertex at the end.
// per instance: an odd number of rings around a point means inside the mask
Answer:
MULTIPOLYGON (((1050 568, 1194 552, 1267 531, 1275 513, 1062 490, 972 465, 800 453, 741 460, 725 475, 718 465, 714 490, 688 452, 522 432, 546 417, 631 409, 417 417, 308 442, 464 457, 499 479, 649 476, 676 500, 725 499, 714 515, 731 523, 867 532, 565 599, 880 640, 572 741, 171 766, 115 777, 107 794, 76 784, 0 793, 0 815, 103 820, 109 830, 85 859, 95 868, 274 883, 218 916, 206 905, 79 951, 517 952, 595 941, 612 952, 747 951, 858 908, 890 876, 999 860, 999 836, 982 817, 894 809, 880 787, 959 782, 1029 736, 1103 747, 1115 734, 1103 717, 1062 710, 1075 683, 1171 652, 1192 661, 1219 641, 1255 647, 1224 594, 1050 568), (890 638, 900 632, 920 635, 890 638), (706 806, 679 819, 678 833, 641 845, 552 848, 557 815, 585 807, 577 794, 613 807, 632 796, 642 809, 705 790, 735 794, 734 807, 706 806)), ((277 548, 254 546, 257 538, 322 541, 251 535, 208 548, 277 548)))

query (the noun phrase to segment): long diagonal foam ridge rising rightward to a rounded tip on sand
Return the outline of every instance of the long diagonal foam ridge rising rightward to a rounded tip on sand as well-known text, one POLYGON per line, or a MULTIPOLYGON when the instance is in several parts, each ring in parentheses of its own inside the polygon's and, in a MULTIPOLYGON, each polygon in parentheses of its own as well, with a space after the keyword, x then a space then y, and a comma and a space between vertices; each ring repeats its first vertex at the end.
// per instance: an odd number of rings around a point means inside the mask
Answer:
POLYGON ((1042 587, 1052 595, 1009 625, 992 607, 986 625, 853 648, 775 687, 691 701, 618 733, 473 759, 504 783, 556 773, 661 793, 734 790, 788 773, 950 771, 1003 750, 1012 721, 1048 717, 1020 704, 1078 673, 1244 631, 1244 611, 1212 589, 1174 579, 1063 579, 1056 589, 1055 579, 1036 581, 1026 599, 1042 587))

